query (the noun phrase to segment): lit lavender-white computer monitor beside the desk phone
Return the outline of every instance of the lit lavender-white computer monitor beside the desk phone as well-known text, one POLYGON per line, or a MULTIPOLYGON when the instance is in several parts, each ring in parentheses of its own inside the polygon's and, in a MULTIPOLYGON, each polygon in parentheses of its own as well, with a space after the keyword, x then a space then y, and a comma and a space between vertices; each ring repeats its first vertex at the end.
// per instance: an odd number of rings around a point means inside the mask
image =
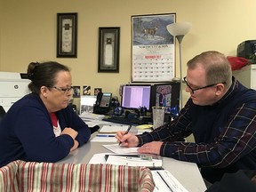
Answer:
POLYGON ((150 84, 123 85, 121 107, 130 109, 146 107, 150 110, 150 94, 150 84))

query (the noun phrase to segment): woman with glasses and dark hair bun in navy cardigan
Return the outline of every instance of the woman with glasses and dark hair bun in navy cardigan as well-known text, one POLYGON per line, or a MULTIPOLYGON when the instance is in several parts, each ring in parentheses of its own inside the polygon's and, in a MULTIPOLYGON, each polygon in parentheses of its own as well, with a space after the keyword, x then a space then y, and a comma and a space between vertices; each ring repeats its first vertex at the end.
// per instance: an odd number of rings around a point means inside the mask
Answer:
POLYGON ((69 69, 57 62, 30 63, 31 93, 0 124, 0 167, 14 160, 57 162, 90 139, 84 121, 68 106, 69 69))

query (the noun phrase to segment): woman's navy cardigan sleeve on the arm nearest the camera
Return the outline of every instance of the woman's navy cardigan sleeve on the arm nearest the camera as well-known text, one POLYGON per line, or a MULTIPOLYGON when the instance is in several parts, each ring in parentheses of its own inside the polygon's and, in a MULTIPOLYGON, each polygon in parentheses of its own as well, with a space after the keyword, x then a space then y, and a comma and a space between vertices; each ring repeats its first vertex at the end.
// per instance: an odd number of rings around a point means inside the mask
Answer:
POLYGON ((52 122, 43 108, 19 109, 15 117, 15 133, 28 161, 56 162, 68 156, 74 141, 69 135, 55 137, 52 122))

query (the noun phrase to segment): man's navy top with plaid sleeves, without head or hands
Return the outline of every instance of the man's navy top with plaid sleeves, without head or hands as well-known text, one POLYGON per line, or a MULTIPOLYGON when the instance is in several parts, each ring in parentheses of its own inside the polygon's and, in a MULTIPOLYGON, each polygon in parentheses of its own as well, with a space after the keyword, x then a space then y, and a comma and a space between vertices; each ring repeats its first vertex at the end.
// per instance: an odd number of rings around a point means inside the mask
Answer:
POLYGON ((225 172, 255 170, 256 92, 233 78, 228 92, 214 105, 197 106, 189 99, 174 121, 138 139, 140 146, 163 140, 161 156, 198 164, 211 182, 225 172), (176 141, 191 133, 196 142, 176 141))

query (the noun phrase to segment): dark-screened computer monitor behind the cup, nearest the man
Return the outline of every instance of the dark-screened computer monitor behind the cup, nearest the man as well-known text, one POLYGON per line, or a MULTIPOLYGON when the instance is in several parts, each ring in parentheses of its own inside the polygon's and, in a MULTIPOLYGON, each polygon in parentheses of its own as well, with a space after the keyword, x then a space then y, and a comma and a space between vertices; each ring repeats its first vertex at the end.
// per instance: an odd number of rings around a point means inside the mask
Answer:
POLYGON ((165 114, 180 106, 180 82, 154 84, 151 90, 151 106, 165 107, 165 114))

